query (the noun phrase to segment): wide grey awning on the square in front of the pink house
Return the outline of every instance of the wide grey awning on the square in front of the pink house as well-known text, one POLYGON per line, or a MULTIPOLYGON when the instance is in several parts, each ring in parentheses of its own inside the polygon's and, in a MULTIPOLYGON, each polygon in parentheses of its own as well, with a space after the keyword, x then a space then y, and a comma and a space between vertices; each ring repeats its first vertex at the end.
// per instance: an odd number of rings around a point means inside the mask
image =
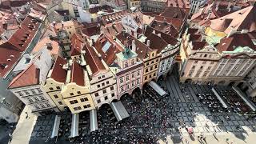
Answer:
POLYGON ((125 106, 122 105, 122 102, 111 102, 110 107, 113 110, 114 116, 118 119, 118 121, 121 121, 123 118, 129 117, 129 114, 125 106))

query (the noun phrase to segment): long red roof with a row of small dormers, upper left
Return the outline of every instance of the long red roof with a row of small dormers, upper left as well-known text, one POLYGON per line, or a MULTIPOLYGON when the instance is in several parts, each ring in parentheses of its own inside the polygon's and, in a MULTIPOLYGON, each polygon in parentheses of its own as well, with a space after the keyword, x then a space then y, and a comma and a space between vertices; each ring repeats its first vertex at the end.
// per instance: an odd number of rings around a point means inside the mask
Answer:
POLYGON ((14 45, 18 50, 26 50, 26 47, 33 40, 40 24, 41 22, 37 19, 32 18, 29 15, 26 16, 20 27, 9 38, 8 42, 14 45))

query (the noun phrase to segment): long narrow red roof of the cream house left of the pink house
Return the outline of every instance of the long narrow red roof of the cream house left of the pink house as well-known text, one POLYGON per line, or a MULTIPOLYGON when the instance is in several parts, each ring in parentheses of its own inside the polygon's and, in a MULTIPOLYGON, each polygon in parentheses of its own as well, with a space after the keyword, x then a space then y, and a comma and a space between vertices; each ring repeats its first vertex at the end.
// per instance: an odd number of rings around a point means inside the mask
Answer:
POLYGON ((89 45, 88 42, 85 42, 83 49, 86 50, 85 60, 86 64, 90 66, 92 74, 96 74, 99 70, 106 70, 106 67, 103 65, 101 58, 98 57, 98 54, 95 52, 94 48, 89 45))

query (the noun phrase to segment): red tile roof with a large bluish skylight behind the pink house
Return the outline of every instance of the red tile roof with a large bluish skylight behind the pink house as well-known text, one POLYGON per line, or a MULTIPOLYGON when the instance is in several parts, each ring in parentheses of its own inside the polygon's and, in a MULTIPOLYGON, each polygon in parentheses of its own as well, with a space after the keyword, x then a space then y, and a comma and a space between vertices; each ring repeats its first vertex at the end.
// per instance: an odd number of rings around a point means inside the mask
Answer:
POLYGON ((107 36, 106 34, 101 34, 98 40, 95 42, 95 49, 99 54, 102 55, 103 60, 106 62, 108 66, 113 64, 116 59, 116 55, 121 52, 122 46, 120 46, 117 42, 115 42, 112 38, 107 36), (109 48, 104 52, 102 50, 103 47, 109 45, 109 48))

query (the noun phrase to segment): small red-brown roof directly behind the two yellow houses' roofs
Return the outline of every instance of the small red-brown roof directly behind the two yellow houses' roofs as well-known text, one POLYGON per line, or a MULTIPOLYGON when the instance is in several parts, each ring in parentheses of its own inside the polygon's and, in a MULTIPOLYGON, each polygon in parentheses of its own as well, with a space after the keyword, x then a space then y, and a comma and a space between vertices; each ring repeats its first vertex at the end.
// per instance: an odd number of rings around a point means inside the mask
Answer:
POLYGON ((83 47, 83 38, 79 34, 73 34, 71 37, 70 56, 80 55, 83 47))

